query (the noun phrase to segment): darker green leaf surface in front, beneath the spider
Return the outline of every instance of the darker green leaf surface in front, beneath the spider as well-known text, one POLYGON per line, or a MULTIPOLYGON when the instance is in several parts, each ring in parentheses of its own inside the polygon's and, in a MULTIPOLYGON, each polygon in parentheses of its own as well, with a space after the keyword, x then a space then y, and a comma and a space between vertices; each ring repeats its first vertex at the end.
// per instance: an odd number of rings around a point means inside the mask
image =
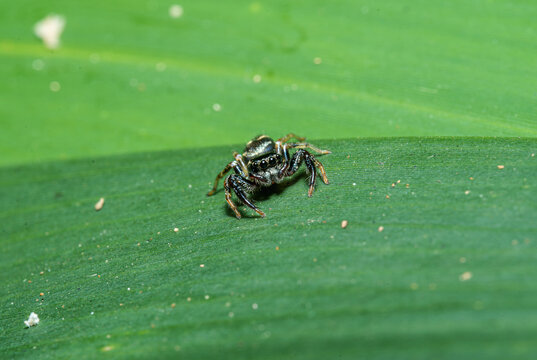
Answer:
POLYGON ((0 357, 537 356, 536 140, 317 145, 241 220, 232 147, 2 168, 0 357))

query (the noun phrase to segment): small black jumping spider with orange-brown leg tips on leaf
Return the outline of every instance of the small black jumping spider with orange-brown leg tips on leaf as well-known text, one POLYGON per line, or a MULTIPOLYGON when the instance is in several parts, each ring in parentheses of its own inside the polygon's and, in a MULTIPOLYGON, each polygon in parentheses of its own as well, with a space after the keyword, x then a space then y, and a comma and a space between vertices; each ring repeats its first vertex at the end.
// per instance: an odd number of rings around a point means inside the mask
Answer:
POLYGON ((267 135, 259 135, 253 138, 246 144, 242 154, 233 153, 235 160, 227 164, 224 170, 216 176, 213 188, 207 193, 207 196, 215 194, 218 181, 229 170, 233 169, 235 174, 229 175, 224 180, 226 201, 229 207, 233 210, 237 219, 240 219, 241 214, 231 200, 231 189, 233 189, 240 201, 262 217, 265 217, 265 213, 257 208, 253 201, 246 197, 246 194, 252 193, 260 187, 267 187, 282 182, 285 177, 293 175, 302 162, 305 162, 310 174, 308 196, 311 197, 317 178, 316 168, 319 169, 325 184, 328 184, 328 178, 326 177, 323 165, 305 149, 312 149, 319 154, 330 154, 331 152, 329 150, 321 150, 312 144, 304 142, 305 140, 306 138, 292 133, 277 141, 272 140, 267 135), (297 139, 299 142, 287 143, 292 138, 297 139), (290 156, 289 149, 292 148, 298 150, 293 156, 290 156))

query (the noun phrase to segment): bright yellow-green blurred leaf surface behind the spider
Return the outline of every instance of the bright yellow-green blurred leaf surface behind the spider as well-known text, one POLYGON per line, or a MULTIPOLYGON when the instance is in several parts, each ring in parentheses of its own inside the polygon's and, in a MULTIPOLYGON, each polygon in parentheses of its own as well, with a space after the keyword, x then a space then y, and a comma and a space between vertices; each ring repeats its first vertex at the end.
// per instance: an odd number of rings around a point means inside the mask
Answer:
POLYGON ((172 4, 1 2, 0 165, 262 132, 537 135, 532 1, 172 4), (55 51, 33 34, 50 13, 55 51))

